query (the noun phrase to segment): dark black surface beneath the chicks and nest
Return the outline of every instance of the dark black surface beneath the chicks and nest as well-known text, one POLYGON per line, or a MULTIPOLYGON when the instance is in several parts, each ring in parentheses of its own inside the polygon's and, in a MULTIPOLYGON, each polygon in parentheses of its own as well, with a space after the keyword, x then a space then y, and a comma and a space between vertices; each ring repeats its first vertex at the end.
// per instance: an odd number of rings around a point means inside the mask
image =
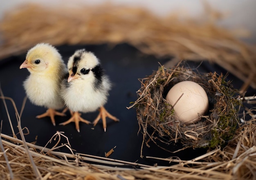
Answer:
MULTIPOLYGON (((84 45, 84 46, 61 46, 57 47, 65 62, 72 56, 76 49, 85 48, 95 53, 95 55, 101 60, 105 73, 110 77, 113 83, 112 90, 110 91, 110 97, 105 108, 112 113, 112 115, 119 118, 120 122, 114 122, 107 120, 107 131, 103 131, 101 121, 94 129, 92 125, 80 123, 80 133, 75 129, 74 123, 67 124, 65 126, 58 125, 64 122, 70 117, 67 113, 67 117, 56 117, 56 127, 52 125, 49 118, 36 119, 38 114, 44 113, 45 108, 37 107, 31 104, 27 100, 24 112, 22 114, 21 122, 22 127, 29 129, 29 134, 25 136, 27 142, 34 142, 40 146, 45 144, 52 138, 56 131, 65 132, 64 135, 70 141, 72 149, 79 153, 85 153, 96 156, 105 156, 105 152, 116 146, 115 152, 112 153, 110 158, 118 160, 126 160, 129 162, 138 162, 143 164, 153 165, 155 163, 166 165, 164 162, 157 160, 150 160, 140 158, 140 149, 142 143, 142 136, 139 131, 139 125, 137 122, 135 109, 126 109, 130 106, 130 102, 134 102, 137 99, 136 91, 140 88, 140 82, 138 78, 144 78, 147 75, 152 74, 153 70, 157 70, 159 67, 158 62, 164 64, 170 59, 157 59, 154 56, 144 55, 134 47, 128 44, 119 44, 115 47, 110 47, 106 44, 103 45, 84 45)), ((26 69, 19 69, 20 64, 25 60, 25 53, 20 56, 9 57, 0 61, 0 83, 4 96, 13 98, 16 102, 18 111, 22 106, 23 98, 25 97, 25 90, 22 86, 23 81, 29 75, 26 69)), ((190 67, 198 67, 200 63, 188 62, 190 67)), ((209 64, 203 62, 198 68, 201 72, 217 71, 218 73, 226 73, 224 69, 218 67, 216 64, 209 64)), ((241 81, 234 76, 228 76, 229 80, 234 81, 234 86, 239 88, 241 81)), ((248 94, 253 94, 255 91, 249 89, 248 94)), ((7 101, 9 113, 11 115, 11 121, 15 132, 18 133, 17 121, 13 107, 9 101, 7 101)), ((83 118, 93 121, 96 118, 98 112, 85 113, 83 118)), ((11 129, 9 121, 7 119, 7 113, 4 109, 2 101, 0 102, 0 120, 2 120, 2 133, 11 135, 11 129)), ((62 142, 66 142, 65 138, 62 138, 62 142)), ((50 144, 48 147, 51 147, 50 144)), ((205 153, 205 149, 187 149, 179 153, 166 152, 155 144, 150 143, 150 148, 144 147, 144 156, 154 156, 168 158, 170 156, 178 156, 182 160, 189 160, 205 153)), ((179 148, 178 145, 168 147, 171 151, 175 151, 179 148)), ((59 149, 59 151, 69 152, 65 147, 59 149)))

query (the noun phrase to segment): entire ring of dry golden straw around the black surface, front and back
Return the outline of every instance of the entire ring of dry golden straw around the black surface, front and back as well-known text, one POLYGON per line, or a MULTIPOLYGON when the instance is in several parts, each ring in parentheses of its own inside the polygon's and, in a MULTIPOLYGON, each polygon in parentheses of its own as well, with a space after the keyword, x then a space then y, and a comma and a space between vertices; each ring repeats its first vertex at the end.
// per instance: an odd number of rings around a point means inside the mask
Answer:
MULTIPOLYGON (((242 91, 249 85, 255 88, 256 51, 230 31, 217 27, 215 15, 210 13, 205 21, 198 22, 180 21, 175 15, 159 18, 142 9, 110 4, 75 9, 27 5, 11 11, 0 23, 0 58, 24 53, 38 42, 53 45, 128 42, 158 57, 216 62, 245 82, 242 91)), ((16 109, 11 98, 3 94, 0 98, 4 102, 10 100, 16 109)), ((254 97, 244 99, 254 101, 254 97)), ((255 109, 244 111, 244 116, 251 118, 241 124, 226 147, 209 150, 188 161, 175 157, 162 159, 177 163, 166 167, 74 153, 63 132, 56 132, 51 139, 55 142, 51 149, 36 146, 25 140, 20 126, 21 114, 16 110, 22 139, 17 139, 14 133, 0 136, 0 179, 256 179, 255 109), (67 142, 58 144, 60 138, 67 142), (70 153, 54 151, 60 146, 70 149, 70 153)), ((14 129, 11 123, 10 126, 14 129)))

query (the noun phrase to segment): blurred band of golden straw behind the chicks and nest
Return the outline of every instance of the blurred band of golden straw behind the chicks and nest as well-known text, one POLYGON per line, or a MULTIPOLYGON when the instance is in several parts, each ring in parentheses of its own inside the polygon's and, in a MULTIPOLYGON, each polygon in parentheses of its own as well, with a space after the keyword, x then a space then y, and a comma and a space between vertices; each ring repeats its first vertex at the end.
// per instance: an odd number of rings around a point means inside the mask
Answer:
MULTIPOLYGON (((232 31, 216 26, 221 14, 205 4, 201 20, 177 13, 157 17, 141 8, 111 4, 84 7, 26 5, 10 11, 0 23, 0 58, 25 52, 38 42, 118 44, 128 42, 147 54, 176 59, 209 60, 256 88, 255 48, 232 31)), ((177 62, 176 62, 177 63, 177 62)))

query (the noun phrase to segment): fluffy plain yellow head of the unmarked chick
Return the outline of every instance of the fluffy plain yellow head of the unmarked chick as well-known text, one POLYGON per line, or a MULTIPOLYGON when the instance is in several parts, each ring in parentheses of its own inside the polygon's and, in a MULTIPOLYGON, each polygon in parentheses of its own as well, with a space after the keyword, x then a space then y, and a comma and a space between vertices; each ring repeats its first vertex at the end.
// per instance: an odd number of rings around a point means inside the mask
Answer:
POLYGON ((29 49, 20 69, 27 68, 32 73, 52 74, 63 67, 63 60, 57 49, 47 43, 39 43, 29 49))

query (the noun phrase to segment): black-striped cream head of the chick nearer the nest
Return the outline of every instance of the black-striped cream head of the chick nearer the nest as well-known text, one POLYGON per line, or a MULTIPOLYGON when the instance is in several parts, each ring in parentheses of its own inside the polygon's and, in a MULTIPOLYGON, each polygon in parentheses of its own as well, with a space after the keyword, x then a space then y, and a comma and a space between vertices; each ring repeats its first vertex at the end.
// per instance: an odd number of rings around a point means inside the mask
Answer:
POLYGON ((98 58, 85 49, 75 51, 70 57, 67 68, 69 77, 67 82, 101 78, 101 67, 98 58))

